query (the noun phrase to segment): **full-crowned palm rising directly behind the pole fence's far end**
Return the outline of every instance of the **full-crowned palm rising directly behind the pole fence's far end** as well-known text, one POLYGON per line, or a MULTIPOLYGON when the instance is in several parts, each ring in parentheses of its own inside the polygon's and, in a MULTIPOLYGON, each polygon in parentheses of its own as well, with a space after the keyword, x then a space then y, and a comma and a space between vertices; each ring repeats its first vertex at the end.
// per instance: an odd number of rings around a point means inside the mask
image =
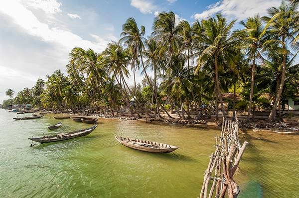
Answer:
MULTIPOLYGON (((225 110, 223 107, 220 82, 219 82, 219 67, 225 66, 227 61, 233 59, 235 51, 234 48, 239 45, 239 39, 231 33, 235 20, 227 23, 226 19, 217 14, 216 17, 208 17, 202 21, 204 32, 198 39, 204 47, 204 51, 198 58, 197 71, 202 65, 207 63, 212 57, 215 67, 215 87, 218 93, 218 98, 222 107, 222 114, 225 117, 225 110)), ((217 102, 216 102, 217 107, 217 102)))

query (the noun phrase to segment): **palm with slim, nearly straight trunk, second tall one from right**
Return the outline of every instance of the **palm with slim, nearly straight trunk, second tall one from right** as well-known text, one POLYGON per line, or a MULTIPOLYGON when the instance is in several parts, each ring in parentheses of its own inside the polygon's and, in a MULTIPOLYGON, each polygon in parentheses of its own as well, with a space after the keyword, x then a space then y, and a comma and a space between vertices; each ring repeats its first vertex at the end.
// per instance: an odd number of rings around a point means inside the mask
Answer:
POLYGON ((247 51, 247 57, 252 62, 252 70, 251 70, 251 86, 250 86, 250 97, 248 103, 248 114, 247 114, 247 122, 249 121, 251 114, 251 105, 254 91, 254 78, 256 71, 256 62, 262 60, 261 51, 263 50, 263 44, 267 40, 267 34, 263 32, 263 22, 259 15, 254 17, 247 18, 247 21, 240 22, 245 29, 244 31, 244 44, 243 47, 247 51))

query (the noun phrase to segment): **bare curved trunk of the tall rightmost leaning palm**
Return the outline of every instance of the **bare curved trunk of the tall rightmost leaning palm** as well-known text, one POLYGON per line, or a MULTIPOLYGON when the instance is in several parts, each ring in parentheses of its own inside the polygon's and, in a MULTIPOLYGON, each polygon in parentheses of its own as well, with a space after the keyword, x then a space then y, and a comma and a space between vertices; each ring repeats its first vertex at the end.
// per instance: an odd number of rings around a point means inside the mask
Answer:
MULTIPOLYGON (((283 36, 282 41, 285 43, 285 36, 283 36)), ((286 50, 286 46, 284 45, 283 48, 286 50)), ((281 78, 281 83, 279 86, 279 90, 277 92, 274 104, 273 104, 273 108, 272 111, 269 115, 268 121, 271 122, 275 119, 275 115, 276 115, 276 106, 282 96, 283 93, 283 89, 284 89, 284 83, 285 83, 285 78, 286 78, 286 59, 287 59, 287 54, 284 53, 284 60, 283 60, 283 68, 282 68, 282 78, 281 78)))

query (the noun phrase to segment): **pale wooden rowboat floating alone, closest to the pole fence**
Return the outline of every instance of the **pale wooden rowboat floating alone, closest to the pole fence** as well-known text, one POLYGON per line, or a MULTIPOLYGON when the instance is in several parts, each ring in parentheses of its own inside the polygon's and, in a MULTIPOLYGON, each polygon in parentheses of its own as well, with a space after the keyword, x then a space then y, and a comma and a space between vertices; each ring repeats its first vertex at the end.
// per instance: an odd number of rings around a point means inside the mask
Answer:
POLYGON ((179 147, 140 139, 130 139, 115 136, 115 139, 126 147, 151 153, 170 153, 179 147))

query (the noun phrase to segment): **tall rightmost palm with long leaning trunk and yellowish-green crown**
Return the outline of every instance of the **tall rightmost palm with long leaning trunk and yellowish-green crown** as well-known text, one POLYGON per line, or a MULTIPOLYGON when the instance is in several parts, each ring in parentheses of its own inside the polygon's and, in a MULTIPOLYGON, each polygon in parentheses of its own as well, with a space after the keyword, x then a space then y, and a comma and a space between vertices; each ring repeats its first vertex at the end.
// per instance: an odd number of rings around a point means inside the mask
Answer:
POLYGON ((276 50, 283 54, 283 66, 281 71, 280 85, 268 121, 273 121, 275 119, 276 108, 283 93, 286 78, 286 60, 287 55, 290 53, 290 50, 287 48, 288 44, 293 42, 294 49, 298 49, 299 44, 296 41, 298 31, 294 31, 294 29, 298 28, 296 27, 296 22, 298 21, 295 21, 295 19, 297 18, 296 12, 296 5, 290 5, 286 1, 282 1, 282 4, 279 7, 271 7, 268 9, 269 16, 263 17, 263 19, 267 23, 264 29, 264 33, 269 28, 270 33, 277 37, 276 39, 274 38, 268 40, 265 45, 269 47, 270 50, 273 50, 273 47, 275 47, 276 50))

